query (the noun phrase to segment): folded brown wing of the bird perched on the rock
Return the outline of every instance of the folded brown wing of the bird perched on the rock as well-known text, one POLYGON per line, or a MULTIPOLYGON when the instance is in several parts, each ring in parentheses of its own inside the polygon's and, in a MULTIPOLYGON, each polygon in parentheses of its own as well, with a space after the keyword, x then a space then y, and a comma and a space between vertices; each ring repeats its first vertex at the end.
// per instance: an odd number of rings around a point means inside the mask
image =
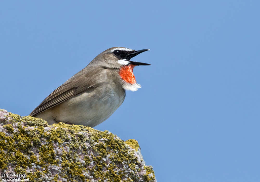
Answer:
POLYGON ((36 116, 68 100, 74 95, 82 93, 89 88, 97 87, 105 81, 106 76, 104 74, 105 69, 102 67, 86 67, 82 69, 44 99, 42 103, 31 112, 30 116, 36 116))

